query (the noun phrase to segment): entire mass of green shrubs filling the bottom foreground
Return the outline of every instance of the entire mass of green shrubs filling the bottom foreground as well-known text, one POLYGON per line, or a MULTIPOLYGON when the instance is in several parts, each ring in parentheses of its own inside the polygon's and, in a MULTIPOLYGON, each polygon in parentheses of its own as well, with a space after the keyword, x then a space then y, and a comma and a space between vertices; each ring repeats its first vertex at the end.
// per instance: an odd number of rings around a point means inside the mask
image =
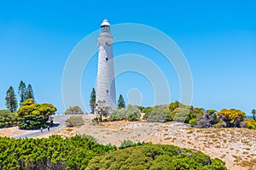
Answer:
POLYGON ((173 145, 134 144, 117 150, 90 136, 0 138, 0 169, 226 169, 224 161, 173 145))

